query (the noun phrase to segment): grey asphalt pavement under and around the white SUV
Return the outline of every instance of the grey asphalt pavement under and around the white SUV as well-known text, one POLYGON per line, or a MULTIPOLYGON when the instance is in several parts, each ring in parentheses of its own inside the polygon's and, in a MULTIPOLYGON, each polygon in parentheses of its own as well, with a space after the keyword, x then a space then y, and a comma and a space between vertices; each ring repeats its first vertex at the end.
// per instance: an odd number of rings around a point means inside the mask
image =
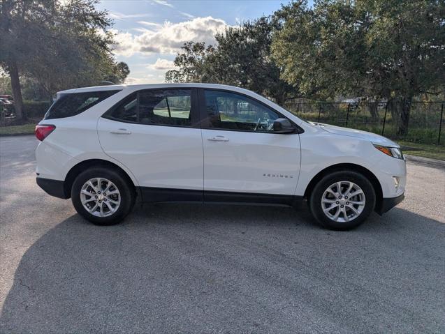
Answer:
POLYGON ((305 208, 162 204, 96 227, 0 138, 0 333, 444 333, 445 169, 348 232, 305 208))

